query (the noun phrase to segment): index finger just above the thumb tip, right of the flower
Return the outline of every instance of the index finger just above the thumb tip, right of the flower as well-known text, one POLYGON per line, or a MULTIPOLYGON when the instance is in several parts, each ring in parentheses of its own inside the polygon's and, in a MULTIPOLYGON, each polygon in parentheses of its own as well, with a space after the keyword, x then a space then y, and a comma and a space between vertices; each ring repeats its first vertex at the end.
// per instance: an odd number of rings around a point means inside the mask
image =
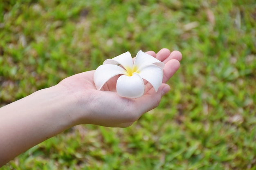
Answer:
POLYGON ((163 77, 163 83, 166 83, 173 75, 176 73, 176 71, 180 68, 180 62, 178 60, 172 59, 169 60, 164 65, 164 77, 163 77))

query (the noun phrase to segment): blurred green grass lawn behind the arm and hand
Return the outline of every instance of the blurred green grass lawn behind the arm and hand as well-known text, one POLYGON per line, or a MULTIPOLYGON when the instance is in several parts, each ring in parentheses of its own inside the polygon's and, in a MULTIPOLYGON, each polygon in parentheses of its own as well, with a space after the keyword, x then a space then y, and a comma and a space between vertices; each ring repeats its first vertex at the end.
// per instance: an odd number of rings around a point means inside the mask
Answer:
POLYGON ((0 0, 0 106, 126 51, 183 54, 129 128, 81 125, 3 170, 256 170, 254 0, 0 0))

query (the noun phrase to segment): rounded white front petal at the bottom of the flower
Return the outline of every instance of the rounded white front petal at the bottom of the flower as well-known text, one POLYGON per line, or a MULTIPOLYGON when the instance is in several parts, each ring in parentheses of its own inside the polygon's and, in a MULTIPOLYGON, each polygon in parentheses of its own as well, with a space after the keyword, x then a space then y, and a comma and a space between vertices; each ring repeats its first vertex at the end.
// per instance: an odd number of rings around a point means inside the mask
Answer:
POLYGON ((143 79, 137 73, 134 73, 132 76, 121 75, 117 79, 117 93, 122 97, 141 97, 144 91, 143 79))

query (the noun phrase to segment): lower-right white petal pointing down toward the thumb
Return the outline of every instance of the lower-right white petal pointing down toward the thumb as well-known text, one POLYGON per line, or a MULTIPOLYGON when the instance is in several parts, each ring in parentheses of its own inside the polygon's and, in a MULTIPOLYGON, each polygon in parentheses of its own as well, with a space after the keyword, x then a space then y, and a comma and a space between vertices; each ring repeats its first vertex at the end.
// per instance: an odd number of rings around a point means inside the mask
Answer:
POLYGON ((152 64, 141 68, 139 75, 141 78, 146 79, 157 92, 162 84, 164 72, 162 68, 152 64))

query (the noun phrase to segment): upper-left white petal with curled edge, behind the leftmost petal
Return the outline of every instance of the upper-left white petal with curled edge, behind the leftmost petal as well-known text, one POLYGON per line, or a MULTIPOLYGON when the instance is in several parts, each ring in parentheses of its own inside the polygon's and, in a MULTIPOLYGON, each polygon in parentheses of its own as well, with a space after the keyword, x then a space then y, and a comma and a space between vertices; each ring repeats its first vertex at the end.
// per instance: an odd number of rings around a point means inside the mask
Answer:
POLYGON ((118 55, 117 57, 105 60, 103 64, 121 64, 121 66, 123 66, 124 68, 132 68, 132 55, 129 51, 127 51, 126 53, 118 55))

